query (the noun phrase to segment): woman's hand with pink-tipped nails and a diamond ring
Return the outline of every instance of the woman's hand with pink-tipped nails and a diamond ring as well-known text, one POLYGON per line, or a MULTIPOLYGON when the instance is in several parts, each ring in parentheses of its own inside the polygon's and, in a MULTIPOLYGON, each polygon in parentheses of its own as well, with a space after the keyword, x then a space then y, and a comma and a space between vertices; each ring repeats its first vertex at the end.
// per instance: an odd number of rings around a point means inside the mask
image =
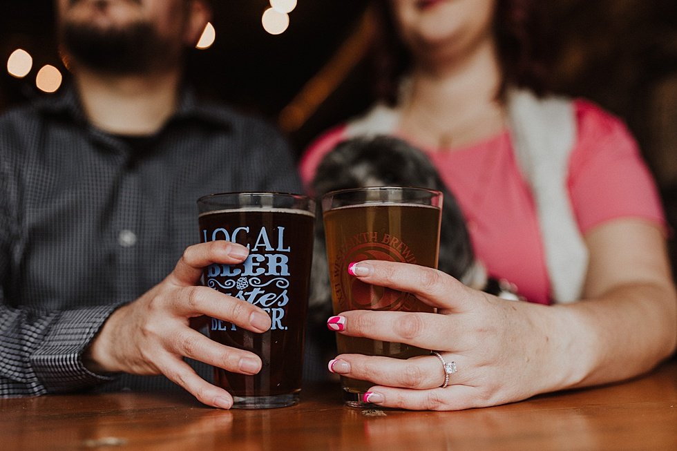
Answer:
MULTIPOLYGON (((408 291, 437 314, 345 311, 339 333, 439 352, 408 360, 343 354, 333 372, 374 383, 365 398, 384 407, 459 410, 526 399, 564 387, 569 374, 557 362, 559 340, 550 336, 553 307, 502 300, 470 289, 441 271, 404 263, 364 261, 352 267, 363 282, 408 291)), ((330 327, 336 330, 336 325, 330 327)))

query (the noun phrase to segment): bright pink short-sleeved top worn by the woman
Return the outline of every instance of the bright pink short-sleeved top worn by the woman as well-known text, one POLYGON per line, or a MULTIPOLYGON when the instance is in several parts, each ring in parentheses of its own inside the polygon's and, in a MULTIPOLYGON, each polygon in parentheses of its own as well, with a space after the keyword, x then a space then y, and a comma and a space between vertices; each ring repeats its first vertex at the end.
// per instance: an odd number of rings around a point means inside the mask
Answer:
MULTIPOLYGON (((578 136, 569 160, 568 188, 582 233, 615 218, 643 218, 665 226, 654 180, 619 119, 575 101, 578 136)), ((309 184, 322 157, 345 138, 338 126, 316 140, 301 160, 309 184)), ((475 255, 490 276, 514 282, 535 303, 549 303, 550 280, 530 187, 513 155, 508 131, 463 148, 423 148, 457 197, 475 255)))

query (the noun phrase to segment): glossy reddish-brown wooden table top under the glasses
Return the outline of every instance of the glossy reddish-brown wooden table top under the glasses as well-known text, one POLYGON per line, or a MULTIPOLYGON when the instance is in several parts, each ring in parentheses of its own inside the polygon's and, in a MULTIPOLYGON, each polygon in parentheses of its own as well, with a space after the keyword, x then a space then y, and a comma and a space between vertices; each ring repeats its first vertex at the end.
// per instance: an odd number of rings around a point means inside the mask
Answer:
POLYGON ((627 383, 461 412, 362 411, 337 385, 224 411, 176 394, 0 400, 0 450, 677 450, 677 361, 627 383))

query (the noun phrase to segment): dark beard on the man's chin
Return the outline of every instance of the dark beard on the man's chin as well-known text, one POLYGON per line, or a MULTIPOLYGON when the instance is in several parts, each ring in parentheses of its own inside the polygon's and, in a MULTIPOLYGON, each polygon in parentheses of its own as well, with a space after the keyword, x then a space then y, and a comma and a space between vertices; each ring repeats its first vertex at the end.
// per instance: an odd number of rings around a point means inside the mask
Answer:
POLYGON ((112 75, 149 73, 175 64, 177 56, 151 23, 101 30, 88 23, 64 23, 61 43, 70 57, 92 70, 112 75))

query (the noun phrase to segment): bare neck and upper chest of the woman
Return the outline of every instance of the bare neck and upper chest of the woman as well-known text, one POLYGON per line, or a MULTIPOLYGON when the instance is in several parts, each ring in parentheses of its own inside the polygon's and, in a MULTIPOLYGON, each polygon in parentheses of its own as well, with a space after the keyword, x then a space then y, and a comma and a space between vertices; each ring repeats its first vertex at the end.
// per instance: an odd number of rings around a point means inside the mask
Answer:
POLYGON ((496 135, 505 126, 501 77, 491 39, 463 59, 418 64, 402 99, 400 132, 435 148, 466 146, 496 135))

